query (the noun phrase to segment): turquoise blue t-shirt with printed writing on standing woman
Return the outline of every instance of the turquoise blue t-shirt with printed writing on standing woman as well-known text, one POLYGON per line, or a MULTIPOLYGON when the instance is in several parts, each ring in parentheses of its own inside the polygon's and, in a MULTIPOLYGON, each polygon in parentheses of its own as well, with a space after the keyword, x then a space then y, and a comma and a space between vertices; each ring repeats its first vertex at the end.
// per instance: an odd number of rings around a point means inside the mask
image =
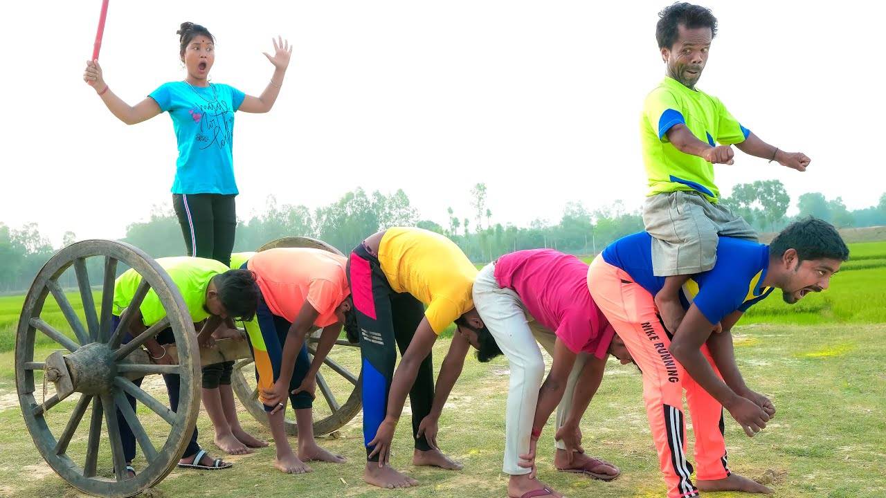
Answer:
POLYGON ((229 85, 163 83, 148 96, 169 112, 178 141, 174 194, 237 194, 234 113, 245 94, 229 85))

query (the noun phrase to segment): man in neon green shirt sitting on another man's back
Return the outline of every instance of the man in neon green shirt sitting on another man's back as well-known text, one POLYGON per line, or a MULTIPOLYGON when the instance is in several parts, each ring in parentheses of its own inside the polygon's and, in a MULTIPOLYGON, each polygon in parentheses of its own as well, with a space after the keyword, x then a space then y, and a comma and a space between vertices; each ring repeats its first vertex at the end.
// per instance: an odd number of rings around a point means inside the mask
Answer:
POLYGON ((757 240, 757 232, 741 216, 719 204, 713 165, 734 163, 732 145, 797 171, 805 171, 810 160, 802 152, 766 144, 717 97, 696 89, 717 34, 711 11, 679 3, 659 17, 656 38, 667 70, 664 81, 646 97, 641 117, 649 176, 643 223, 653 237, 655 275, 666 277, 655 302, 664 326, 676 331, 685 314, 680 287, 689 276, 713 268, 719 237, 757 240))

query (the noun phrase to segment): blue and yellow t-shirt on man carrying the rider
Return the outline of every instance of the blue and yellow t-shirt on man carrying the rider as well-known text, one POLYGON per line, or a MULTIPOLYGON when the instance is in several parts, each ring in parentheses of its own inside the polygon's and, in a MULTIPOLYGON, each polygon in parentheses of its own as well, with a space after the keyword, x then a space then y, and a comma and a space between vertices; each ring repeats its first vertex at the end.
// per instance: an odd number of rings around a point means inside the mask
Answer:
MULTIPOLYGON (((647 232, 621 237, 602 252, 603 261, 621 268, 653 296, 664 287, 664 276, 652 272, 652 236, 647 232)), ((769 246, 720 237, 717 264, 708 271, 689 277, 680 292, 683 307, 695 304, 711 323, 718 323, 734 311, 766 299, 772 287, 761 284, 769 268, 769 246)))

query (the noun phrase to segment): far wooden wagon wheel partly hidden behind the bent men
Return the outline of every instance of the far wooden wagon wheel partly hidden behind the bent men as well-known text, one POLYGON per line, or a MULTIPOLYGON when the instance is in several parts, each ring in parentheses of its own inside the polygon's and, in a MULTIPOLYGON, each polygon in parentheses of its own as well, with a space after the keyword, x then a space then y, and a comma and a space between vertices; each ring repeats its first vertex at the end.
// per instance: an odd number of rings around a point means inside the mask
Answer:
MULTIPOLYGON (((310 237, 278 238, 262 245, 259 251, 266 251, 276 247, 313 247, 341 254, 332 245, 310 237)), ((314 360, 315 346, 319 340, 320 333, 321 330, 314 331, 307 341, 307 350, 312 361, 314 360)), ((349 368, 343 360, 344 358, 353 360, 352 357, 354 355, 358 359, 356 364, 359 366, 360 346, 351 344, 346 339, 338 339, 336 345, 332 347, 330 354, 326 357, 326 361, 323 362, 323 367, 317 372, 317 391, 323 394, 323 399, 329 408, 329 414, 327 415, 325 409, 321 412, 315 405, 314 433, 317 435, 337 431, 360 412, 359 373, 354 374, 353 370, 356 369, 352 370, 353 367, 349 368), (329 381, 327 377, 324 377, 324 372, 326 376, 329 376, 329 381), (345 397, 346 401, 344 404, 341 404, 339 400, 345 397), (318 414, 322 417, 318 417, 318 414)), ((259 401, 259 390, 254 382, 253 362, 252 359, 245 359, 234 363, 231 385, 233 385, 234 392, 237 393, 237 398, 243 403, 245 409, 261 424, 268 426, 268 414, 265 413, 264 407, 261 401, 259 401)), ((353 364, 354 362, 351 361, 351 363, 353 364)), ((295 424, 294 419, 287 417, 285 424, 287 434, 291 436, 299 434, 299 428, 295 424)))

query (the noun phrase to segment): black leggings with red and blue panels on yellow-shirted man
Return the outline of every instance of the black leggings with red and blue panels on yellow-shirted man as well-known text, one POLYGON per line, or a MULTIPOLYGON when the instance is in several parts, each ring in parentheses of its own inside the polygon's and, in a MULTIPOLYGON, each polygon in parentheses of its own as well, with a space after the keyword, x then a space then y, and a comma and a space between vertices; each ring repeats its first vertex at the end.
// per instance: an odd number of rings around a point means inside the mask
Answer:
MULTIPOLYGON (((369 441, 375 439, 378 426, 385 420, 388 394, 391 392, 397 351, 404 354, 424 319, 424 305, 407 292, 393 292, 385 273, 373 256, 358 245, 348 259, 347 280, 354 296, 354 311, 360 326, 362 357, 363 443, 366 455, 372 452, 369 441)), ((412 408, 412 435, 416 449, 431 449, 424 436, 417 437, 418 425, 431 413, 434 401, 434 370, 431 354, 418 367, 416 382, 409 390, 412 408)), ((378 455, 369 458, 377 462, 378 455)))

